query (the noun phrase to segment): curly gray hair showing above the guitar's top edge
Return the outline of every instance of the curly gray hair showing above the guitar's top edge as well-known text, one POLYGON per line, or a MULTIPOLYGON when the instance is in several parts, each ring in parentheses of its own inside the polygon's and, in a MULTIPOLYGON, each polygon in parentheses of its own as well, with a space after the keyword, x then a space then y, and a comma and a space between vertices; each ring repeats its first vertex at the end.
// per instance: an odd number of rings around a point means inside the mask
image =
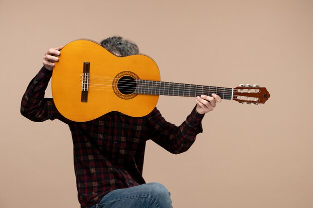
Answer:
POLYGON ((109 52, 117 56, 129 56, 139 54, 138 46, 125 40, 120 36, 108 37, 100 42, 100 44, 109 52))

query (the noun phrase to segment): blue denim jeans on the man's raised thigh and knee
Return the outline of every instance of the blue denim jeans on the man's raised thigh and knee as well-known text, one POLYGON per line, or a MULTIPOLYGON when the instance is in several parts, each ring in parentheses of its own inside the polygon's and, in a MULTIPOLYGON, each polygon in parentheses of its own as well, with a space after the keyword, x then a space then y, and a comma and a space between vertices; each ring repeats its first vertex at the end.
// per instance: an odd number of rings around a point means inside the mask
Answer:
POLYGON ((170 193, 158 183, 117 189, 91 208, 172 208, 170 193))

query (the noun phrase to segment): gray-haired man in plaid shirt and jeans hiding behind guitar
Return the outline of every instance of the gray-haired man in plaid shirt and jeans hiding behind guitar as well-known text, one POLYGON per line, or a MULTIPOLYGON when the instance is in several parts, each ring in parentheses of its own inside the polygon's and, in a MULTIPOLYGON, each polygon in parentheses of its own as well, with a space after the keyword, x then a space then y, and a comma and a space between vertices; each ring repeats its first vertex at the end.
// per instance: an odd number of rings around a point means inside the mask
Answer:
MULTIPOLYGON (((139 53, 136 44, 119 36, 106 38, 101 45, 116 56, 139 53)), ((59 119, 69 126, 81 208, 171 208, 166 188, 146 184, 142 178, 145 142, 151 139, 173 154, 187 151, 202 132, 203 115, 221 98, 216 94, 196 97, 196 106, 178 127, 166 122, 156 108, 140 118, 109 112, 92 121, 73 122, 57 111, 52 98, 44 98, 61 49, 51 48, 44 54, 43 67, 30 81, 20 111, 32 121, 59 119)))

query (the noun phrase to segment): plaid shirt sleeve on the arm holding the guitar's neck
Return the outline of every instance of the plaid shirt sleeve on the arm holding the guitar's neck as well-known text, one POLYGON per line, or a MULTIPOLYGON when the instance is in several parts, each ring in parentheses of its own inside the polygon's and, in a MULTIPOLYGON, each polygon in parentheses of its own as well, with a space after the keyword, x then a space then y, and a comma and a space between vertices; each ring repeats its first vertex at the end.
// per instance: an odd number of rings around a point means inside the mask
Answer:
POLYGON ((196 135, 202 133, 201 121, 204 114, 196 112, 195 107, 180 126, 171 124, 154 108, 147 115, 149 136, 152 141, 173 154, 187 151, 195 141, 196 135))

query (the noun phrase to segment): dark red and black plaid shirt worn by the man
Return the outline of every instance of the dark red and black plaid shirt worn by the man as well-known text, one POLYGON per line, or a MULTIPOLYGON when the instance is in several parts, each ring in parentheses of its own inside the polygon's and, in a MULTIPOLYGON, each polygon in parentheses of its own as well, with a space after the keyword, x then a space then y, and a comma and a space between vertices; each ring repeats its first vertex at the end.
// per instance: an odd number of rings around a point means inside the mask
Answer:
POLYGON ((98 203, 112 190, 145 183, 142 168, 148 139, 178 154, 188 150, 202 132, 203 116, 195 109, 178 127, 166 122, 156 108, 140 118, 113 111, 88 122, 70 121, 57 111, 52 98, 44 98, 51 74, 44 67, 40 69, 22 97, 20 111, 31 121, 59 119, 69 126, 82 208, 98 203))

